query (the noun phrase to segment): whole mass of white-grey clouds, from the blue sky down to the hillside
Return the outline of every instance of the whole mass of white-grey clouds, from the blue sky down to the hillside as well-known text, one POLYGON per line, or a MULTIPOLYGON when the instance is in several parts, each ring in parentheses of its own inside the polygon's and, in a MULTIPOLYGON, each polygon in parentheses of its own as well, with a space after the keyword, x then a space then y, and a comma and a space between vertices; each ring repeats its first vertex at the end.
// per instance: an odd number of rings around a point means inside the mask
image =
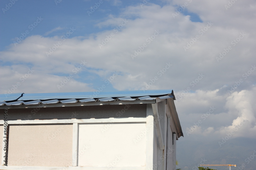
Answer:
MULTIPOLYGON (((172 4, 179 6, 185 2, 188 1, 172 1, 172 4)), ((147 3, 142 7, 139 4, 126 7, 119 16, 108 16, 96 26, 113 29, 88 37, 64 41, 59 36, 31 35, 17 46, 10 45, 8 50, 0 52, 3 82, 0 93, 7 93, 29 68, 35 72, 15 93, 92 91, 97 87, 93 87, 88 74, 96 74, 104 81, 118 71, 120 74, 111 82, 117 90, 171 88, 177 99, 184 93, 180 101, 175 101, 183 129, 201 120, 194 134, 221 138, 246 119, 247 123, 234 137, 252 137, 256 130, 256 89, 253 86, 256 71, 251 71, 246 78, 243 75, 256 64, 256 5, 252 0, 237 1, 226 10, 227 3, 222 0, 191 1, 187 10, 198 14, 202 23, 191 22, 190 17, 183 14, 174 18, 172 14, 177 7, 172 5, 161 7, 147 3), (129 22, 114 31, 125 19, 129 22), (202 34, 200 30, 206 28, 208 22, 213 25, 202 34), (155 34, 156 31, 159 34, 155 34), (246 35, 235 45, 231 44, 240 33, 246 35), (184 46, 197 36, 196 42, 185 51, 184 46), (61 44, 57 45, 58 42, 61 44), (100 48, 102 42, 106 44, 100 48), (143 44, 146 45, 143 47, 143 44), (232 49, 218 62, 216 57, 228 46, 232 49), (46 52, 50 49, 55 50, 47 57, 46 52), (135 53, 138 55, 132 59, 135 53), (65 76, 73 74, 72 70, 81 61, 87 63, 58 90, 57 85, 65 76), (168 69, 167 63, 172 64, 168 69), (204 76, 199 77, 200 74, 204 76), (242 83, 229 95, 227 90, 240 79, 242 83), (209 119, 203 120, 201 116, 207 114, 210 107, 216 109, 209 119)))

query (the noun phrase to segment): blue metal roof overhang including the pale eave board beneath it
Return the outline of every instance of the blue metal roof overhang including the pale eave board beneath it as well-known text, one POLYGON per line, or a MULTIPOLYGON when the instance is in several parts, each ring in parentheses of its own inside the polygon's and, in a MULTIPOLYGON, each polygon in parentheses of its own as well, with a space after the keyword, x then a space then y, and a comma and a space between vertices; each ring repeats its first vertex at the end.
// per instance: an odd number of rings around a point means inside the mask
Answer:
POLYGON ((74 93, 36 93, 2 94, 0 108, 34 108, 60 106, 86 106, 122 103, 155 103, 174 98, 173 90, 134 90, 114 92, 74 92, 74 93))

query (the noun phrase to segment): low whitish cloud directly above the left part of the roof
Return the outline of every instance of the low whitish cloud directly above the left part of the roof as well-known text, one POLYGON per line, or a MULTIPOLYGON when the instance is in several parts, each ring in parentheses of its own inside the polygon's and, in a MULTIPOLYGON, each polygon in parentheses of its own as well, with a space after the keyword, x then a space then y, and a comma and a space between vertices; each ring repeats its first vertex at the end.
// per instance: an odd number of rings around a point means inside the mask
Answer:
MULTIPOLYGON (((93 91, 92 84, 81 83, 72 77, 42 74, 36 68, 20 65, 1 67, 0 75, 0 81, 3 82, 1 94, 93 91)), ((74 73, 72 75, 76 76, 74 73)))

